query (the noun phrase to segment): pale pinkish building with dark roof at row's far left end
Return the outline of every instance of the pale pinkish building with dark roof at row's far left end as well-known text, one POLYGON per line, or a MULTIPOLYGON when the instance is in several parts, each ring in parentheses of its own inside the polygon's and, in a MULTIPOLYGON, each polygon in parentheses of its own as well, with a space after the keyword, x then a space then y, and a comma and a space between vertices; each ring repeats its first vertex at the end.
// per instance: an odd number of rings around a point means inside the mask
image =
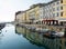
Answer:
POLYGON ((15 13, 15 22, 16 23, 22 23, 22 22, 24 22, 25 21, 25 12, 24 11, 18 11, 16 13, 15 13))

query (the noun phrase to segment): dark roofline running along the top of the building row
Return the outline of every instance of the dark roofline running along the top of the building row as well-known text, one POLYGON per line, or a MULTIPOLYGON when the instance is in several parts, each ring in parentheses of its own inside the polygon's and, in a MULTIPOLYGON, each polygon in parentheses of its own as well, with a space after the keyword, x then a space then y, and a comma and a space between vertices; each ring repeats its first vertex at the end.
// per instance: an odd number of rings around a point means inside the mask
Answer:
MULTIPOLYGON (((32 6, 30 7, 30 9, 28 9, 28 10, 25 10, 25 11, 29 11, 29 10, 35 8, 35 7, 45 7, 45 6, 51 4, 51 3, 53 3, 53 2, 56 2, 56 1, 58 1, 58 0, 52 0, 52 1, 47 2, 47 3, 36 3, 36 4, 32 4, 32 6)), ((18 11, 18 12, 15 12, 15 16, 19 14, 19 13, 25 12, 25 11, 18 11)))

